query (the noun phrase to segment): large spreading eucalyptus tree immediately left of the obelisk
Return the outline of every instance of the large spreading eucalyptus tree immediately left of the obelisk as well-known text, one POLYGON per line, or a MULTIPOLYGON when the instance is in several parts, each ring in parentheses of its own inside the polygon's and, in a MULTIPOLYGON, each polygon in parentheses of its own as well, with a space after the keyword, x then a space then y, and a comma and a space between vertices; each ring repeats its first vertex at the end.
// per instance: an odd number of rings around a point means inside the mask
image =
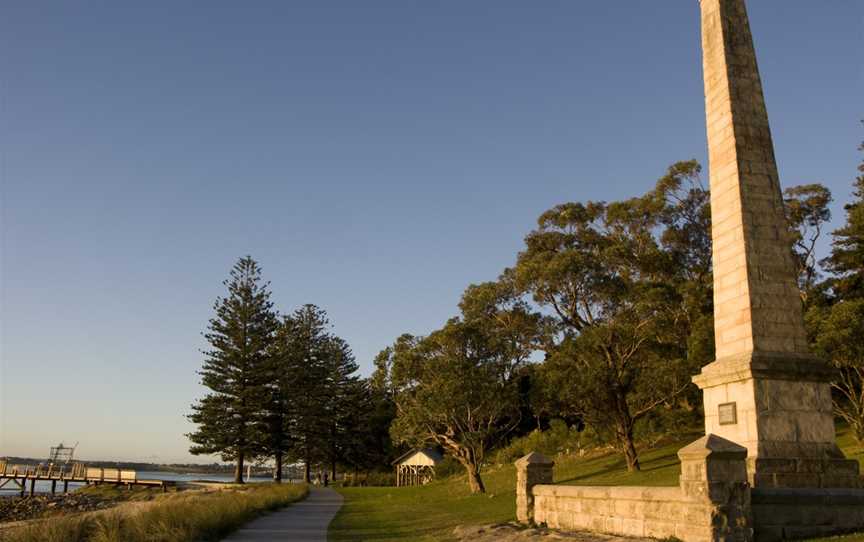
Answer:
POLYGON ((711 310, 710 211, 697 175, 698 164, 679 163, 643 197, 546 211, 504 273, 552 315, 538 378, 555 393, 545 396, 611 433, 628 470, 639 469, 636 423, 691 388, 696 352, 713 355, 710 334, 689 344, 711 310))

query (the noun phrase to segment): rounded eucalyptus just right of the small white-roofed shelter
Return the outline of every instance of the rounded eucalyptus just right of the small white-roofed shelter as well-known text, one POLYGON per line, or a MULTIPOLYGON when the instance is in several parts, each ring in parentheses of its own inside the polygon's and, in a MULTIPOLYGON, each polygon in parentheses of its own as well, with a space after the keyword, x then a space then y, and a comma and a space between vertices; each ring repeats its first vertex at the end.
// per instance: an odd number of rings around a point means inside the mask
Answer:
POLYGON ((388 353, 394 440, 437 445, 485 492, 487 451, 519 423, 518 369, 538 338, 538 315, 501 284, 469 287, 462 316, 426 337, 403 335, 388 353))

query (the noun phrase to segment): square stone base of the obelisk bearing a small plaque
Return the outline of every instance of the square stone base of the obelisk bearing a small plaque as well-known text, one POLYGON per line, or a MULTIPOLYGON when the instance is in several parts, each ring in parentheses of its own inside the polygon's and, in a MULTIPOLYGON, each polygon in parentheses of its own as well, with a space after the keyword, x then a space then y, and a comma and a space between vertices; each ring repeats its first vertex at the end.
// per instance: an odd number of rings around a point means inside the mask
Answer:
POLYGON ((809 355, 717 360, 693 378, 703 391, 705 434, 747 448, 752 487, 862 487, 858 462, 835 442, 833 376, 809 355))

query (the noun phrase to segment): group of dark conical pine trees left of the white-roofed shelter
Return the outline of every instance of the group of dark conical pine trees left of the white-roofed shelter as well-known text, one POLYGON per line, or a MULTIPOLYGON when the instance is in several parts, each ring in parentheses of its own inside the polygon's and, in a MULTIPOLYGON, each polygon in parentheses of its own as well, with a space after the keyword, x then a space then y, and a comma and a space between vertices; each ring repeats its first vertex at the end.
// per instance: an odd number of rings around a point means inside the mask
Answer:
POLYGON ((192 405, 190 451, 236 461, 238 483, 249 460, 272 458, 277 481, 286 458, 305 464, 307 481, 316 465, 332 476, 337 464, 362 462, 369 388, 326 313, 310 304, 280 318, 248 256, 225 285, 205 333, 211 349, 200 374, 210 392, 192 405))

